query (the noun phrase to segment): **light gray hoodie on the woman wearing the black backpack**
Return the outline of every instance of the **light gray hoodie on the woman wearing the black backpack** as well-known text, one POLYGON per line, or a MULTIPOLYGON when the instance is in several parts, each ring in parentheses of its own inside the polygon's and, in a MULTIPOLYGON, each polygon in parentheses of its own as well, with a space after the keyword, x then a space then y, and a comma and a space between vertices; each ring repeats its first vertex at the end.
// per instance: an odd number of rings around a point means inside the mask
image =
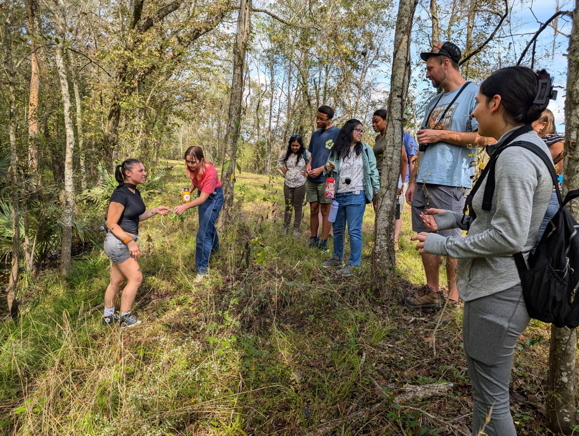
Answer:
MULTIPOLYGON (((520 126, 519 126, 520 127, 520 126)), ((515 127, 490 144, 490 156, 515 127)), ((515 141, 536 144, 550 157, 547 145, 534 131, 515 141)), ((504 291, 521 283, 512 255, 522 251, 525 259, 537 241, 539 226, 551 199, 553 182, 540 157, 517 146, 501 152, 495 170, 496 185, 490 211, 482 210, 486 178, 472 199, 477 218, 471 221, 467 236, 444 237, 431 233, 424 241, 424 252, 458 259, 457 287, 463 301, 504 291)), ((446 211, 434 215, 438 229, 461 228, 462 214, 446 211)), ((468 216, 466 217, 468 218, 468 216)))

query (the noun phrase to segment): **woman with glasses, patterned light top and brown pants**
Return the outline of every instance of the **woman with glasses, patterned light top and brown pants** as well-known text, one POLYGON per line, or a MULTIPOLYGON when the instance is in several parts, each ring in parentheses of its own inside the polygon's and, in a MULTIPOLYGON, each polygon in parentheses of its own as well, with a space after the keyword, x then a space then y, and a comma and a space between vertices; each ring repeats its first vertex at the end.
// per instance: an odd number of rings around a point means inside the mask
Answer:
POLYGON ((277 160, 277 167, 284 175, 284 236, 290 232, 291 211, 294 211, 294 231, 292 236, 299 236, 302 222, 303 197, 306 195, 306 177, 302 174, 310 162, 312 153, 303 148, 302 137, 292 135, 288 148, 277 160))

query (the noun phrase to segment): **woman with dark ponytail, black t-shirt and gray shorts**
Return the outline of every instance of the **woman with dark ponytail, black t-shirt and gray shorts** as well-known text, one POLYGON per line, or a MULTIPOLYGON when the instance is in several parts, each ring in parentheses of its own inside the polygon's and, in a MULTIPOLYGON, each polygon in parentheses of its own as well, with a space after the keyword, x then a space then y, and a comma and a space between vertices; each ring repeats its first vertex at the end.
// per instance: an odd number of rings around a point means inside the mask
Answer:
POLYGON ((115 179, 119 186, 113 190, 107 213, 107 237, 105 254, 111 259, 111 283, 105 292, 103 325, 113 325, 119 320, 120 328, 130 328, 141 323, 131 315, 133 301, 143 279, 137 259, 141 249, 137 244, 139 222, 153 215, 167 215, 165 206, 146 210, 137 185, 144 182, 145 166, 138 159, 127 159, 115 168, 115 179), (127 281, 120 298, 120 317, 115 314, 115 303, 120 288, 127 281))

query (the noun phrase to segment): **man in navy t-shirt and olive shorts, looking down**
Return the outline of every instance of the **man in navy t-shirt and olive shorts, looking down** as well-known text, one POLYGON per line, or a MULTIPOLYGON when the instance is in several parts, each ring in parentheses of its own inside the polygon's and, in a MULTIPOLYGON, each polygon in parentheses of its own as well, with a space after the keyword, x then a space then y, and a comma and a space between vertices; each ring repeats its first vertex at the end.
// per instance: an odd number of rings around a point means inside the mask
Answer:
POLYGON ((334 109, 326 105, 318 108, 318 115, 316 116, 318 130, 312 133, 309 147, 312 157, 306 165, 306 201, 310 203, 310 230, 312 230, 310 247, 316 247, 323 253, 329 252, 327 246, 330 232, 328 214, 332 203, 332 199, 325 198, 324 165, 328 162, 329 151, 334 146, 334 141, 340 131, 338 127, 332 126, 332 118, 334 118, 334 109), (318 228, 320 227, 318 214, 320 211, 323 221, 321 240, 318 236, 318 228))

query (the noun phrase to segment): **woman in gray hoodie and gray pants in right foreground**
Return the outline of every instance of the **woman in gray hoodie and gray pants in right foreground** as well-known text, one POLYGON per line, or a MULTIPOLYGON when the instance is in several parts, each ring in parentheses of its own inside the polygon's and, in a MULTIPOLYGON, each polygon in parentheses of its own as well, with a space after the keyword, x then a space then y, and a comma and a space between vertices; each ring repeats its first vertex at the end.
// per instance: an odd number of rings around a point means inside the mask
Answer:
MULTIPOLYGON (((530 125, 547 107, 545 94, 551 95, 551 78, 544 69, 535 73, 526 67, 501 68, 482 82, 472 116, 478 121, 479 135, 500 138, 486 147, 490 156, 507 145, 507 138, 509 144, 532 142, 549 155, 530 125), (541 79, 548 82, 540 90, 541 79), (513 139, 515 131, 519 135, 513 139)), ((478 434, 490 413, 485 434, 516 436, 508 385, 516 340, 527 327, 529 314, 512 255, 522 251, 525 259, 529 256, 553 182, 543 160, 517 146, 501 152, 495 177, 489 211, 482 209, 485 178, 472 198, 475 218, 439 209, 421 215, 431 232, 460 227, 468 230, 466 237, 423 232, 413 240, 419 241, 416 248, 421 253, 459 259, 457 287, 464 301, 464 351, 474 398, 472 434, 478 434)))

